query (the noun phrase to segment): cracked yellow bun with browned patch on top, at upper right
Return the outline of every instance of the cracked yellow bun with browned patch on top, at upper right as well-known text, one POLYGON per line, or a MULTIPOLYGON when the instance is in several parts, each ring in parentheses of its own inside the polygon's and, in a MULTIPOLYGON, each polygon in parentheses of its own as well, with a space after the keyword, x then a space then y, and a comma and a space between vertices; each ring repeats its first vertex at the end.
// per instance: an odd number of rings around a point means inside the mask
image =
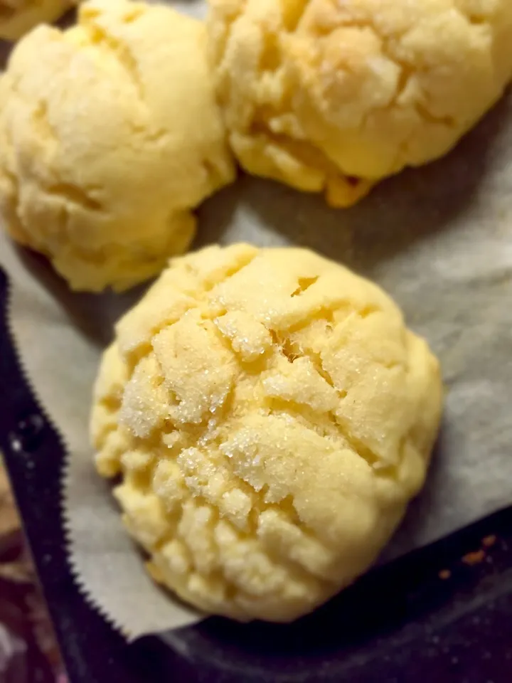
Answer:
POLYGON ((512 77, 511 0, 210 0, 208 32, 242 166, 333 206, 446 154, 512 77))

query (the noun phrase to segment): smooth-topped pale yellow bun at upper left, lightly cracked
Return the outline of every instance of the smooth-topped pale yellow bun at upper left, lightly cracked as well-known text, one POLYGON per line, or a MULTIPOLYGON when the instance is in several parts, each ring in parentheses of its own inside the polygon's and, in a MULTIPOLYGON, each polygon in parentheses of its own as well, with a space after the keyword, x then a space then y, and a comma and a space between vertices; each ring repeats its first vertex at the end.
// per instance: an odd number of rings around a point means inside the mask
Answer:
POLYGON ((98 0, 18 43, 0 80, 0 222, 74 289, 159 272, 234 172, 203 23, 98 0))

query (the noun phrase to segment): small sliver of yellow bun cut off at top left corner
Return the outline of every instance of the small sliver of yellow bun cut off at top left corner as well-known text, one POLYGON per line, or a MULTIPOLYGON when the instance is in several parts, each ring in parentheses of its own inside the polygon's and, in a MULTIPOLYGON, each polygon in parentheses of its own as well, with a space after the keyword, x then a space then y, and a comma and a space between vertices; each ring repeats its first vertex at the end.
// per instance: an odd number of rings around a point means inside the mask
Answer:
POLYGON ((0 0, 0 40, 17 41, 38 23, 52 23, 77 0, 0 0))

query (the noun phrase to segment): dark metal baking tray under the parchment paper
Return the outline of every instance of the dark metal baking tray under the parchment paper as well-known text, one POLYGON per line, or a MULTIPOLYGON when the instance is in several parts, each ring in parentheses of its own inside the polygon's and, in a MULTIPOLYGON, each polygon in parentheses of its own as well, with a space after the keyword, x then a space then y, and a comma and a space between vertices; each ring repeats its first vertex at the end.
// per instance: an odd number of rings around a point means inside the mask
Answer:
POLYGON ((293 625, 210 618, 127 645, 70 571, 63 444, 9 339, 7 287, 0 270, 0 449, 72 683, 511 683, 512 507, 375 568, 293 625))

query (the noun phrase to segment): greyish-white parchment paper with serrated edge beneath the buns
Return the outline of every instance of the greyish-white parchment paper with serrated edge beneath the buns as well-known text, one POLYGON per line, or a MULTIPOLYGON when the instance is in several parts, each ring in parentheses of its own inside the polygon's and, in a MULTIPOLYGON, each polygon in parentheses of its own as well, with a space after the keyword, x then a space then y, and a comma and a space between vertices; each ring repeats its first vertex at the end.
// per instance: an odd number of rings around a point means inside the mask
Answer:
MULTIPOLYGON (((295 243, 372 277, 439 355, 447 399, 430 477, 384 561, 512 503, 512 96, 449 157, 386 181, 348 211, 242 176, 200 218, 196 247, 295 243)), ((130 638, 201 618, 147 578, 88 443, 100 354, 144 287, 73 294, 3 233, 0 265, 11 279, 23 364, 68 444, 65 512, 82 590, 130 638)))

